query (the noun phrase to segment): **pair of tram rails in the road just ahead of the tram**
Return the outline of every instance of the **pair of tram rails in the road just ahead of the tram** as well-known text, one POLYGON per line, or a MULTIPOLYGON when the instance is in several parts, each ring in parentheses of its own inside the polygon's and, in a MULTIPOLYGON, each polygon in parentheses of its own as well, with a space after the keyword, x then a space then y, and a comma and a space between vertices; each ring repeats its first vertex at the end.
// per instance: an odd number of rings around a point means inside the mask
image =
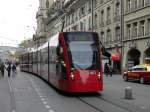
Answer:
POLYGON ((107 112, 108 107, 112 110, 109 112, 149 112, 149 110, 142 109, 138 106, 129 104, 125 101, 116 99, 109 99, 107 97, 77 97, 81 102, 97 110, 98 112, 107 112), (108 105, 108 106, 107 106, 108 105), (116 111, 115 111, 116 108, 116 111), (117 111, 118 110, 118 111, 117 111))

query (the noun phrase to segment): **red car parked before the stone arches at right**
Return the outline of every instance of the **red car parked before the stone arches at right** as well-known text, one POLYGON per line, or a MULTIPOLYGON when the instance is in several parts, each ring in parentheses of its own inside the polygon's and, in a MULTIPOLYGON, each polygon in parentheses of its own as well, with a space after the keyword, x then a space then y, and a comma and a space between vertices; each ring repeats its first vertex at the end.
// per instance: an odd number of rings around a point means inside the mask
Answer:
POLYGON ((144 82, 150 81, 150 71, 146 66, 136 65, 129 68, 123 73, 124 81, 138 80, 139 83, 143 84, 144 82))

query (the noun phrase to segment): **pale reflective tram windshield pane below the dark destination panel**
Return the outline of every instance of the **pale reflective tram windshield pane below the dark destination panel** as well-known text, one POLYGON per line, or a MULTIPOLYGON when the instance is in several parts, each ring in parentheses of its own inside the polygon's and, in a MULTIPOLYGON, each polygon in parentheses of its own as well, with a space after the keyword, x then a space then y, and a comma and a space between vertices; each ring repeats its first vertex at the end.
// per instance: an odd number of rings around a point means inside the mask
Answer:
POLYGON ((70 42, 69 43, 69 58, 71 68, 75 69, 98 69, 98 50, 93 44, 94 42, 70 42))

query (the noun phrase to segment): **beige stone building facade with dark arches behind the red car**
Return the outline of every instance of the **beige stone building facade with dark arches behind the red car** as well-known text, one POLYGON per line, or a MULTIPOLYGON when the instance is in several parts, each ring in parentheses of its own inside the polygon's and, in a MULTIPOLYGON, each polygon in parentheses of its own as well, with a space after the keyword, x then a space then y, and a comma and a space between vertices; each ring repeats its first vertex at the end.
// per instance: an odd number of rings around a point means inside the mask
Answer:
POLYGON ((150 62, 150 0, 124 0, 123 68, 150 62))

